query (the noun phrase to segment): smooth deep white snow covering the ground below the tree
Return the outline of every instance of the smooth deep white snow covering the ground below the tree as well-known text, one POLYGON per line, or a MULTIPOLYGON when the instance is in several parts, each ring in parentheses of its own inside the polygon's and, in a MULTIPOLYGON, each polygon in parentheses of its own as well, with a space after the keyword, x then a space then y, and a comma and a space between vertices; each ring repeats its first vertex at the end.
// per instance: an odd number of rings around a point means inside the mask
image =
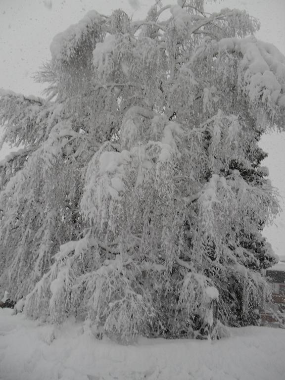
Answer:
POLYGON ((96 340, 74 321, 61 328, 0 309, 1 380, 284 380, 285 330, 231 329, 217 341, 96 340))

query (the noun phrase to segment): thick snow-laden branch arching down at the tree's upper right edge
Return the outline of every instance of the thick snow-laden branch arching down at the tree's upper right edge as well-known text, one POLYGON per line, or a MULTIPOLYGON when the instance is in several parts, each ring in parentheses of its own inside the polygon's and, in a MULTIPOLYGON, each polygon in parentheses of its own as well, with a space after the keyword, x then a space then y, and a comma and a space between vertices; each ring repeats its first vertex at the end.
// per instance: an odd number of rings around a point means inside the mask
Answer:
MULTIPOLYGON (((248 97, 251 107, 269 113, 266 122, 271 118, 275 123, 285 109, 285 57, 273 45, 248 37, 207 41, 197 48, 191 59, 211 56, 221 61, 228 54, 242 55, 237 67, 239 94, 248 97)), ((282 118, 279 123, 283 128, 282 118)))

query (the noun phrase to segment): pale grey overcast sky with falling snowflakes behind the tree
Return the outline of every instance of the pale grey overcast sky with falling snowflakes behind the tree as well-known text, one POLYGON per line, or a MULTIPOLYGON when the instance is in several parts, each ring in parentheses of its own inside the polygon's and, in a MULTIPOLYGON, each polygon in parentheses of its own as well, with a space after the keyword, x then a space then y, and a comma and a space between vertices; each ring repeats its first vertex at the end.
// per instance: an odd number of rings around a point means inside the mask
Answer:
MULTIPOLYGON (((50 58, 49 45, 57 33, 96 9, 110 14, 122 8, 134 19, 142 18, 154 0, 0 0, 0 88, 25 95, 41 95, 43 87, 32 75, 50 58)), ((176 0, 162 0, 163 4, 176 0)), ((257 37, 273 43, 285 54, 285 0, 208 1, 208 11, 239 8, 261 22, 257 37)), ((285 198, 285 134, 265 136, 270 178, 285 198)), ((3 156, 4 152, 0 152, 3 156)), ((285 202, 282 202, 285 209, 285 202)), ((277 254, 285 254, 285 212, 265 231, 277 254)))

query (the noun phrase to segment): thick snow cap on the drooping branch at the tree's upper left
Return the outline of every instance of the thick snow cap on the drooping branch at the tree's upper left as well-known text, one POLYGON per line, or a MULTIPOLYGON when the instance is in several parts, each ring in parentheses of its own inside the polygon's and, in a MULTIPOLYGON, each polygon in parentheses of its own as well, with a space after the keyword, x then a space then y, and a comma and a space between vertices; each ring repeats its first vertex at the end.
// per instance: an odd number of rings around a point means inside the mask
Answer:
POLYGON ((68 61, 74 54, 75 47, 101 20, 101 15, 95 10, 91 10, 78 24, 70 25, 64 32, 57 34, 50 44, 52 59, 68 61))

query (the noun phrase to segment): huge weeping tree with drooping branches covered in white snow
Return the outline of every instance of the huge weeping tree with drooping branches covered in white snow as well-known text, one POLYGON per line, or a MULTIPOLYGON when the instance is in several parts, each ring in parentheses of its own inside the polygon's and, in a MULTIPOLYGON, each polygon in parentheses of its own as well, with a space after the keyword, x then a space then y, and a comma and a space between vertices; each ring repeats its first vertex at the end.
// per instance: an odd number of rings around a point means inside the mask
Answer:
POLYGON ((0 163, 0 285, 28 316, 124 341, 207 334, 217 298, 223 324, 254 321, 279 211, 258 141, 285 128, 285 57, 258 27, 203 0, 91 11, 53 39, 46 99, 0 93, 21 147, 0 163))

